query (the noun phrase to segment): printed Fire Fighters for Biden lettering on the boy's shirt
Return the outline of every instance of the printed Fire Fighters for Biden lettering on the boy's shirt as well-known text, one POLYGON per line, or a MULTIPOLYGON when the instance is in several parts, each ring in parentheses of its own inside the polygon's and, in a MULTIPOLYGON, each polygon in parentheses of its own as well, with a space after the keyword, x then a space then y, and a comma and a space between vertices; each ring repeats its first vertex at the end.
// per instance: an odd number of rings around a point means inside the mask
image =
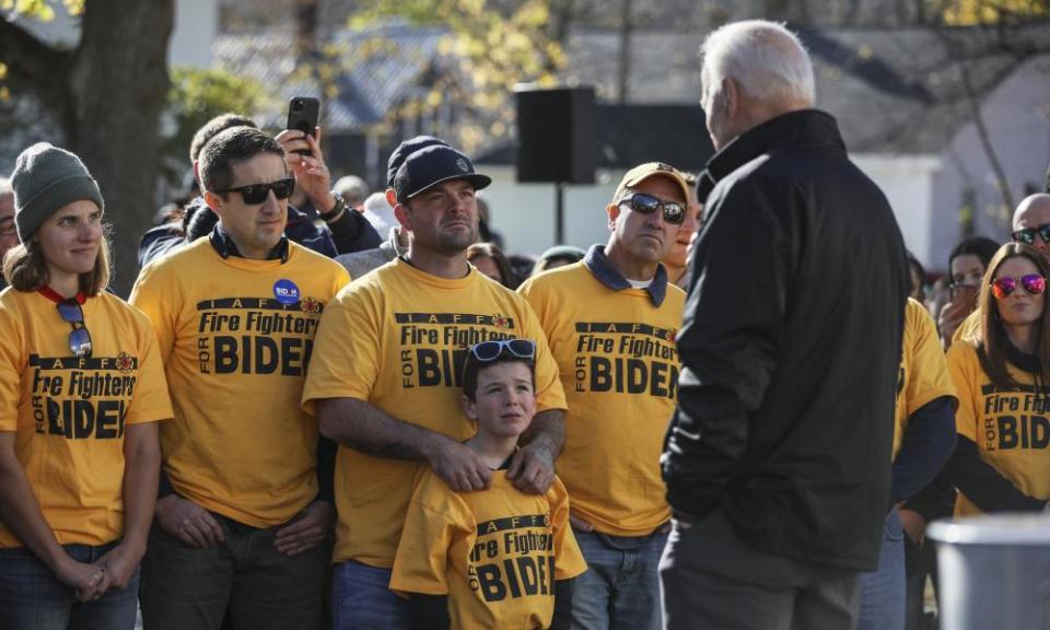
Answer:
POLYGON ((553 596, 555 542, 546 514, 478 524, 467 568, 470 588, 486 602, 553 596))

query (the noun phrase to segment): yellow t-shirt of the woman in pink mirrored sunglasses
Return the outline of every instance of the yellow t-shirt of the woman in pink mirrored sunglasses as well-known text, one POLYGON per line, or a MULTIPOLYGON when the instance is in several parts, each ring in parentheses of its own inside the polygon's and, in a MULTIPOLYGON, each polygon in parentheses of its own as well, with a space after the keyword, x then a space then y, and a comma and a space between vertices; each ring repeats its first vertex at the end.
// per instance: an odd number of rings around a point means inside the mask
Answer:
MULTIPOLYGON (((1007 364, 1020 389, 992 385, 981 369, 977 348, 968 341, 953 343, 947 355, 959 408, 955 424, 959 435, 977 444, 981 459, 1011 480, 1022 492, 1050 500, 1050 388, 1035 396, 1035 378, 1007 364)), ((959 493, 958 515, 979 514, 977 505, 959 493)))

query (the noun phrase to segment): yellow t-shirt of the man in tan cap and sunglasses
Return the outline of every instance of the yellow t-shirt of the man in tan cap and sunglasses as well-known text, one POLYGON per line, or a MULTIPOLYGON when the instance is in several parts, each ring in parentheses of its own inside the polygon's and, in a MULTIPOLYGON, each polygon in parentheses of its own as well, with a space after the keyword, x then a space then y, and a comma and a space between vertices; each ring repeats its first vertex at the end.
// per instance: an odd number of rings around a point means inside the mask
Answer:
POLYGON ((685 293, 668 284, 656 307, 645 290, 614 291, 584 262, 518 291, 547 334, 569 402, 558 475, 573 511, 603 534, 652 533, 670 518, 660 455, 677 399, 685 293))

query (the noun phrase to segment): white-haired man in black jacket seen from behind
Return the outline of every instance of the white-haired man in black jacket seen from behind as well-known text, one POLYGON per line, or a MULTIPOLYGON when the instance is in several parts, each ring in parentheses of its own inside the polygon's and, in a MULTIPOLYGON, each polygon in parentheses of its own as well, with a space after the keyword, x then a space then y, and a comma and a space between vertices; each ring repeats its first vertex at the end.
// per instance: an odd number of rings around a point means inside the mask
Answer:
POLYGON ((674 529, 668 628, 851 628, 891 509, 908 295, 889 203, 813 109, 809 57, 779 24, 703 49, 715 155, 678 335, 662 458, 674 529))

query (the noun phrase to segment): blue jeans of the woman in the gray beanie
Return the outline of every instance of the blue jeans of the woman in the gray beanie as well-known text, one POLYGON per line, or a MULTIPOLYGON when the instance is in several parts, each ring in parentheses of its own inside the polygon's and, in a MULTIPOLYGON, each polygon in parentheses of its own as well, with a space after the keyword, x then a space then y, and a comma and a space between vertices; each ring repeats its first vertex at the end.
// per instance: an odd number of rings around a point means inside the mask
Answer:
MULTIPOLYGON (((63 545, 78 562, 94 562, 119 541, 91 547, 63 545)), ((25 547, 0 549, 0 628, 3 630, 131 630, 138 609, 139 570, 128 587, 110 587, 100 598, 78 602, 25 547)))

